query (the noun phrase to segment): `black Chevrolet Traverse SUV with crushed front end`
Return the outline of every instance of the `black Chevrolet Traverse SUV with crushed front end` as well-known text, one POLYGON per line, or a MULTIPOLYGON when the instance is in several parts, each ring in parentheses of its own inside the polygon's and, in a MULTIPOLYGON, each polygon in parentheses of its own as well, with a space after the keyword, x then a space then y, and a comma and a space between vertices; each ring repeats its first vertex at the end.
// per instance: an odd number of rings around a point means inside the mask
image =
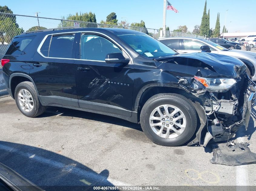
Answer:
MULTIPOLYGON (((207 48, 207 47, 205 47, 207 48)), ((28 117, 46 106, 140 123, 153 142, 206 145, 248 125, 255 84, 240 60, 179 55, 134 30, 75 28, 22 33, 1 60, 9 94, 28 117)))

